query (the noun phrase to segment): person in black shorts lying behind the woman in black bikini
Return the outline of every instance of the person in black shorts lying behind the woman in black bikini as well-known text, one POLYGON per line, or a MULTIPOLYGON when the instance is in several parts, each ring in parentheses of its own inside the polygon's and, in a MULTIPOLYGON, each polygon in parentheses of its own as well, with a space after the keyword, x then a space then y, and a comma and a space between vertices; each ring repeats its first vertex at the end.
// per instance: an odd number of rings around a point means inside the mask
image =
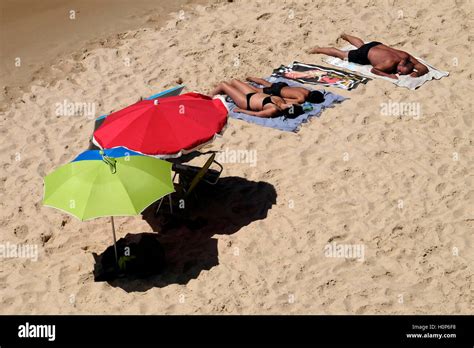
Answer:
POLYGON ((270 83, 258 77, 247 77, 247 81, 264 86, 264 88, 250 86, 256 92, 282 97, 290 103, 303 104, 307 101, 313 104, 320 104, 324 101, 324 94, 320 91, 310 91, 302 87, 290 87, 285 82, 270 83))

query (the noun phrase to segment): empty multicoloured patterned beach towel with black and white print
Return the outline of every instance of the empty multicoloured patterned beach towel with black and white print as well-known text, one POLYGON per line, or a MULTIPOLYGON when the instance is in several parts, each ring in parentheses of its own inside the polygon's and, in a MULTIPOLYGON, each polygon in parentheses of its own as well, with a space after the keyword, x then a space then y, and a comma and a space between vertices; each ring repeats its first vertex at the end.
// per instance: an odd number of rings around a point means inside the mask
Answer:
POLYGON ((359 84, 365 84, 370 81, 367 77, 346 71, 300 62, 294 62, 288 66, 282 65, 273 71, 272 76, 283 77, 301 83, 324 87, 337 87, 346 90, 354 89, 359 84))

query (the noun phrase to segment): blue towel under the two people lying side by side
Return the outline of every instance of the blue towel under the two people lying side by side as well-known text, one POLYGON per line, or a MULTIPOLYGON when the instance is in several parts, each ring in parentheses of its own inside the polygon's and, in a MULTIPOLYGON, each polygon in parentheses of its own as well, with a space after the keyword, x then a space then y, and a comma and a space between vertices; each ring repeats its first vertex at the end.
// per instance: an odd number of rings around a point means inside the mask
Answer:
MULTIPOLYGON (((302 84, 298 82, 287 80, 284 78, 271 77, 271 78, 267 78, 266 80, 271 83, 286 82, 288 83, 290 87, 304 87, 302 84)), ((311 106, 313 107, 313 110, 307 111, 303 115, 300 115, 293 119, 286 118, 284 116, 274 117, 274 118, 261 118, 261 117, 250 116, 250 115, 243 114, 240 112, 234 112, 236 105, 234 104, 232 99, 230 99, 229 97, 226 98, 226 104, 227 104, 227 108, 229 109, 229 116, 232 118, 244 120, 250 123, 255 123, 264 127, 279 129, 282 131, 297 132, 301 124, 304 122, 308 122, 308 119, 310 119, 312 116, 319 116, 323 109, 327 107, 331 107, 334 103, 340 103, 347 99, 338 94, 327 92, 324 90, 321 90, 321 92, 324 93, 324 102, 322 102, 321 104, 311 104, 311 106)))

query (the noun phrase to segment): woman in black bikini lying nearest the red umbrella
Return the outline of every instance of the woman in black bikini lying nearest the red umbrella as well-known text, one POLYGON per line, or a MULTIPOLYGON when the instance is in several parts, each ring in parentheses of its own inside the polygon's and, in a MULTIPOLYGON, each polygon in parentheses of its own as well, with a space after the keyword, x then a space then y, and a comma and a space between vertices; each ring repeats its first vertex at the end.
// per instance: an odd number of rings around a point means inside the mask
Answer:
POLYGON ((243 112, 251 116, 295 118, 304 113, 301 105, 292 104, 281 97, 256 92, 245 82, 235 79, 219 83, 211 92, 212 96, 217 94, 227 94, 237 105, 235 112, 243 112))

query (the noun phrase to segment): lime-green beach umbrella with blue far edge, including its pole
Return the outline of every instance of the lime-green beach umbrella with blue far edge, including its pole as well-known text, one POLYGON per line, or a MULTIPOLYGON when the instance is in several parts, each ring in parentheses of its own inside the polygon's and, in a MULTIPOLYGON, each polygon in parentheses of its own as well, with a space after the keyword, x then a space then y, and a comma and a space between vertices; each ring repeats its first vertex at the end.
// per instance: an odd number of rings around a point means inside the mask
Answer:
POLYGON ((125 148, 85 151, 44 178, 43 204, 82 221, 110 216, 117 259, 113 217, 138 215, 174 192, 171 165, 125 148))

